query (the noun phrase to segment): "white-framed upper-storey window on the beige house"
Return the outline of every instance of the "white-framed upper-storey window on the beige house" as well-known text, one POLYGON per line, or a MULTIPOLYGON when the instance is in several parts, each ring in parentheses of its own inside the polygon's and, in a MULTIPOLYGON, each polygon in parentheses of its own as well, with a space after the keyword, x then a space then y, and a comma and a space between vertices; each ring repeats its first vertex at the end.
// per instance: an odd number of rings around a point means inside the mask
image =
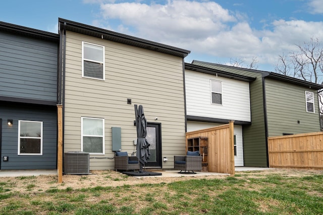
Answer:
POLYGON ((82 77, 104 80, 104 46, 82 42, 82 77))

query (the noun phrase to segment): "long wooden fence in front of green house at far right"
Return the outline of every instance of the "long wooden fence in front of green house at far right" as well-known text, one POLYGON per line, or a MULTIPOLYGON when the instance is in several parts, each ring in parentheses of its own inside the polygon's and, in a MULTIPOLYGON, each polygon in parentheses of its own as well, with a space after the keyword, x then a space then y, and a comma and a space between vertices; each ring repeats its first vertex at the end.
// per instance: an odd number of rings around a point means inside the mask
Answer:
POLYGON ((270 168, 323 170, 323 132, 268 137, 270 168))

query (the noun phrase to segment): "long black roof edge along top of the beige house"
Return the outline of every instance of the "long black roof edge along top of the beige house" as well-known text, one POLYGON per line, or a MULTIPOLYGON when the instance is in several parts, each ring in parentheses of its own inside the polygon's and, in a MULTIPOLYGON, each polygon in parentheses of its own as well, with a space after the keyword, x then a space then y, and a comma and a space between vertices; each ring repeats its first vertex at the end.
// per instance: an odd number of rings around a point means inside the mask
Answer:
POLYGON ((190 53, 190 51, 185 50, 185 49, 181 49, 181 48, 177 48, 177 47, 173 47, 173 46, 141 39, 138 37, 133 37, 133 36, 117 33, 114 31, 109 31, 109 30, 105 30, 105 29, 73 22, 70 20, 65 20, 62 18, 59 18, 59 24, 60 24, 61 30, 63 30, 65 28, 65 30, 67 30, 67 31, 85 34, 85 35, 92 36, 92 37, 98 37, 98 38, 102 38, 105 40, 111 40, 114 42, 123 43, 123 44, 131 45, 131 46, 136 46, 139 48, 158 51, 161 53, 171 54, 171 55, 178 56, 178 57, 184 58, 190 53))

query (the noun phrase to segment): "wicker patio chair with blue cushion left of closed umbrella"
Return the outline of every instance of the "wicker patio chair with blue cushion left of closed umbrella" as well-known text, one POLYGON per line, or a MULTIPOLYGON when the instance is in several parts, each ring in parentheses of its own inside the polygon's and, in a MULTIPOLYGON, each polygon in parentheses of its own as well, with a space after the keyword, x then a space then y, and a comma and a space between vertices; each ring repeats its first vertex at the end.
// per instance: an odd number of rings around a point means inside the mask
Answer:
POLYGON ((139 170, 139 160, 136 156, 128 156, 128 153, 116 153, 115 156, 115 170, 139 170))

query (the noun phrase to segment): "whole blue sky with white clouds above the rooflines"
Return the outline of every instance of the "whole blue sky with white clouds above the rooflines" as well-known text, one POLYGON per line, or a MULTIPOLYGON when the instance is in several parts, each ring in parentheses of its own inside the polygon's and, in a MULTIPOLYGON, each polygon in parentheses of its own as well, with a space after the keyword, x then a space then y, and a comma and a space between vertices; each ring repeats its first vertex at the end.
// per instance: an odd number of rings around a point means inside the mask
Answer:
POLYGON ((192 60, 274 71, 279 54, 323 40, 322 0, 8 0, 0 21, 58 33, 58 18, 191 51, 192 60))

